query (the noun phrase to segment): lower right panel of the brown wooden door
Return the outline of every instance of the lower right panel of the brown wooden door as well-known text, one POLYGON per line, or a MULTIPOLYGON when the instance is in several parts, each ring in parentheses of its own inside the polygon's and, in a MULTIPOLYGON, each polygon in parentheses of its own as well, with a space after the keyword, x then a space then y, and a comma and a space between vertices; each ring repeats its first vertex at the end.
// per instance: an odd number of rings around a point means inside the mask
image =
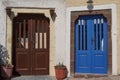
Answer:
POLYGON ((48 74, 49 72, 49 55, 48 52, 36 52, 34 54, 33 72, 36 74, 48 74))

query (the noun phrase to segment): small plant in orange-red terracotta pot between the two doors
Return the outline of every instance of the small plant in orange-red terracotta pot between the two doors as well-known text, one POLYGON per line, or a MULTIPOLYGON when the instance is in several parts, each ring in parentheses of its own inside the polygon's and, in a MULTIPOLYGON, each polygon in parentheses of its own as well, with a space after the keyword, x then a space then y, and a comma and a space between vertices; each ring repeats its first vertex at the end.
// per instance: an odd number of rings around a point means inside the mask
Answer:
POLYGON ((55 75, 57 80, 63 80, 67 77, 67 68, 63 63, 59 63, 55 66, 55 75))

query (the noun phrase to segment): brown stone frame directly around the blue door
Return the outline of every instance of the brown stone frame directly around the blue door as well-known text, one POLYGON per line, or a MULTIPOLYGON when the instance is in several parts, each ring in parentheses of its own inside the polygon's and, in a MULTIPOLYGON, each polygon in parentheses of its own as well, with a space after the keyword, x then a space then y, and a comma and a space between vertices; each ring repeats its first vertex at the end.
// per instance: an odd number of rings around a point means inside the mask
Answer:
MULTIPOLYGON (((91 13, 89 11, 84 11, 84 12, 71 12, 71 73, 74 73, 74 76, 77 76, 76 73, 75 73, 75 56, 72 56, 75 54, 75 51, 74 51, 74 46, 75 46, 75 21, 78 19, 79 16, 84 16, 84 15, 96 15, 96 14, 102 14, 106 19, 107 19, 107 23, 108 23, 108 30, 110 31, 111 30, 111 10, 110 9, 105 9, 105 10, 94 10, 92 11, 91 13), (109 14, 108 14, 109 13, 109 14), (72 62, 73 61, 73 62, 72 62)), ((110 33, 111 34, 111 33, 110 33)), ((108 34, 108 36, 110 36, 108 34)), ((109 38, 108 38, 109 39, 109 38)), ((108 42, 108 41, 107 41, 108 42)), ((111 44, 108 43, 108 48, 109 46, 111 46, 111 44)), ((109 50, 109 49, 108 49, 109 50)), ((109 51, 111 53, 111 50, 109 51)), ((108 53, 106 53, 108 54, 108 53)), ((108 56, 107 56, 108 57, 108 56)), ((109 58, 111 59, 111 56, 108 57, 108 60, 109 58)), ((112 64, 112 63, 111 63, 112 64)), ((111 69, 111 67, 109 68, 108 67, 108 71, 111 71, 109 70, 111 69)), ((77 73, 78 74, 78 73, 77 73)), ((93 74, 93 73, 90 73, 90 74, 93 74)), ((97 73, 96 73, 97 74, 97 73)))

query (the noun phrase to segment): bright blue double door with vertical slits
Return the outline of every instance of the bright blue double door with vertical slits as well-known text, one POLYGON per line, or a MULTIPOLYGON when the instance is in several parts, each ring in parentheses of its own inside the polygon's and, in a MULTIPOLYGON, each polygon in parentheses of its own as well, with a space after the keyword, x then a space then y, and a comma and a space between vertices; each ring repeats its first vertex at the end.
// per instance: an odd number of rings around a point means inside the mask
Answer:
POLYGON ((103 15, 75 21, 75 73, 107 74, 107 20, 103 15))

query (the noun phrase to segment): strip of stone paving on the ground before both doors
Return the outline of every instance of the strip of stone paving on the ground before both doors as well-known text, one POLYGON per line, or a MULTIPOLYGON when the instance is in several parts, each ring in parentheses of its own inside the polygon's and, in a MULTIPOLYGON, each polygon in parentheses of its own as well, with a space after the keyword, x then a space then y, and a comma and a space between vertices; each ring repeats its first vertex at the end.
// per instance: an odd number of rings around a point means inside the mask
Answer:
MULTIPOLYGON (((22 76, 22 77, 14 77, 11 80, 56 80, 55 77, 50 76, 22 76)), ((120 76, 109 76, 109 77, 84 77, 84 78, 66 78, 64 80, 120 80, 120 76)))

